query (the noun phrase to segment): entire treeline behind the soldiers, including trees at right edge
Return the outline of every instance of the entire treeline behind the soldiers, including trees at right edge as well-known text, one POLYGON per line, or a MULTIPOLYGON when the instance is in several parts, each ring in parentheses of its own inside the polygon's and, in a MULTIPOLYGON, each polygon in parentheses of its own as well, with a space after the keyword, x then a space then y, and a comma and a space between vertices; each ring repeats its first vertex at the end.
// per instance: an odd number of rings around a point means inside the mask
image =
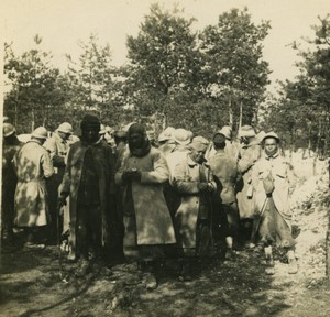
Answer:
POLYGON ((268 63, 263 41, 271 28, 252 22, 248 9, 219 15, 216 25, 191 29, 182 11, 164 11, 157 4, 128 36, 128 63, 112 66, 109 45, 91 34, 80 43, 67 68, 52 65, 51 53, 34 37, 35 48, 16 56, 6 44, 4 73, 9 92, 4 114, 19 132, 43 124, 50 130, 63 121, 78 127, 86 111, 103 123, 120 128, 140 121, 160 132, 166 125, 183 127, 210 138, 223 124, 237 131, 242 124, 275 130, 295 147, 324 155, 329 147, 330 20, 320 19, 310 51, 295 43, 300 75, 282 83, 278 96, 266 98, 268 63))

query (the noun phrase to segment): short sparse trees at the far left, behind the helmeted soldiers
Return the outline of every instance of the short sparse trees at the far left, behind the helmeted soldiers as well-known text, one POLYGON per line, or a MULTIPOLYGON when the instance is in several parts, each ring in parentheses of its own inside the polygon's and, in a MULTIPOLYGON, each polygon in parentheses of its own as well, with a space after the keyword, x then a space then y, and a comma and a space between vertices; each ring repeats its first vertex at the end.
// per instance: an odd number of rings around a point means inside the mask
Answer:
POLYGON ((34 37, 36 48, 15 56, 9 44, 4 45, 4 74, 11 90, 4 97, 4 113, 19 132, 30 132, 37 125, 56 125, 54 113, 64 113, 66 94, 63 78, 51 66, 50 53, 38 50, 42 39, 34 37))

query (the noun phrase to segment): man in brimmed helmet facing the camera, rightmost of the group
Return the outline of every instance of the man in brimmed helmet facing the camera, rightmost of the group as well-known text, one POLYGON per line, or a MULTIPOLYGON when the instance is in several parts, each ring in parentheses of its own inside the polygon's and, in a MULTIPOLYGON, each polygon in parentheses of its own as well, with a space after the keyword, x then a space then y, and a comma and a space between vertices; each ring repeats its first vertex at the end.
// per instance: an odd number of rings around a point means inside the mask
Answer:
POLYGON ((289 189, 295 185, 290 163, 280 155, 279 138, 270 132, 263 139, 265 155, 253 168, 254 210, 257 215, 257 238, 265 247, 267 273, 274 274, 272 245, 284 248, 289 263, 289 273, 297 273, 295 240, 292 236, 292 210, 289 189))

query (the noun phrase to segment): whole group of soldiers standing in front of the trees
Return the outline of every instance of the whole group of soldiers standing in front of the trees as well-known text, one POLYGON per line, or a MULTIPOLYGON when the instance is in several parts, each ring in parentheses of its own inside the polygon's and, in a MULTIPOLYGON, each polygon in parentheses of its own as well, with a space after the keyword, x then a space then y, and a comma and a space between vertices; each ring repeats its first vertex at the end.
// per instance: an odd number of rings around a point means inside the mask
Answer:
POLYGON ((209 141, 168 127, 154 140, 140 123, 107 130, 94 114, 85 114, 80 130, 73 135, 64 122, 48 138, 40 127, 22 143, 3 123, 2 243, 12 243, 15 228, 24 230, 26 247, 58 243, 68 233, 77 276, 122 254, 139 263, 148 289, 157 287, 164 259, 175 259, 187 281, 196 260, 213 256, 217 245, 226 261, 242 245, 261 245, 267 274, 279 245, 288 272, 297 273, 295 176, 276 133, 243 125, 233 141, 226 125, 209 141))

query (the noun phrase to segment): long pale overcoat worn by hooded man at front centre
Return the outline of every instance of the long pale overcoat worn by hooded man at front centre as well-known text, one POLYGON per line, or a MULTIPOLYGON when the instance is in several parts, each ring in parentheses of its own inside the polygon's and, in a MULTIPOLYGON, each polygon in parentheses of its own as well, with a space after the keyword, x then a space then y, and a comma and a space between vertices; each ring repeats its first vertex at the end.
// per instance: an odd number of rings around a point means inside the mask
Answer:
POLYGON ((133 208, 136 217, 138 245, 175 243, 174 227, 164 198, 163 185, 168 181, 165 158, 157 149, 151 147, 143 157, 125 153, 121 167, 116 174, 116 183, 122 185, 122 206, 128 203, 128 184, 122 182, 122 173, 130 168, 141 172, 141 181, 132 181, 133 208))

